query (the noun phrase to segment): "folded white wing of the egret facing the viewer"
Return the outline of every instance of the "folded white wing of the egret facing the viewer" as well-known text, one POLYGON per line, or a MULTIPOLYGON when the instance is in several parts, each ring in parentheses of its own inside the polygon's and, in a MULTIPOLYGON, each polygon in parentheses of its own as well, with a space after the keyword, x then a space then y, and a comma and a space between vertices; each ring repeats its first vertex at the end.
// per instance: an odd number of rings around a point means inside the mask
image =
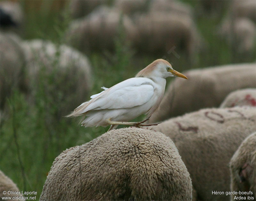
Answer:
POLYGON ((92 100, 81 104, 70 115, 81 115, 89 110, 132 108, 142 105, 154 94, 152 80, 130 78, 110 87, 92 100))

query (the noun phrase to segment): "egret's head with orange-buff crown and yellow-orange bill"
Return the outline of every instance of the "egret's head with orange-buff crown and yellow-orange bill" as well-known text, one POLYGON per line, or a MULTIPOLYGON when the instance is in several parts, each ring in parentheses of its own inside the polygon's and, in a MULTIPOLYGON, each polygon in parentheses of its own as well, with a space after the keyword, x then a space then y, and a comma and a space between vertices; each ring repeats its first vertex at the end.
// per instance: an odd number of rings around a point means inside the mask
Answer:
POLYGON ((142 69, 135 77, 161 77, 168 78, 178 76, 180 78, 188 79, 185 75, 173 70, 172 65, 164 59, 157 59, 150 63, 146 68, 142 69))

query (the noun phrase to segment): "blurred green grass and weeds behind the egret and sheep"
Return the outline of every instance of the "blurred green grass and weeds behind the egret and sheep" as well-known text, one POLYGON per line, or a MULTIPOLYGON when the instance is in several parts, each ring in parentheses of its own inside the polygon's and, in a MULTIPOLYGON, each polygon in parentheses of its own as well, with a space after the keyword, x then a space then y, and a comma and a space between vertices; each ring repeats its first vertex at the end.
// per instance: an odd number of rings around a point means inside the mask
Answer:
MULTIPOLYGON (((3 0, 0 1, 0 5, 2 2, 3 0)), ((196 0, 180 2, 191 6, 193 20, 204 41, 204 48, 198 51, 192 60, 179 49, 179 57, 168 52, 144 53, 132 46, 131 41, 126 40, 121 15, 118 34, 113 36, 114 51, 94 49, 86 52, 92 66, 92 87, 88 94, 84 94, 84 101, 88 100, 90 95, 99 93, 102 86, 110 87, 133 77, 157 58, 169 60, 173 68, 180 72, 255 61, 255 49, 249 55, 238 55, 234 50, 234 44, 228 43, 216 34, 216 29, 228 15, 231 1, 210 1, 214 4, 196 0)), ((56 44, 57 49, 66 42, 66 30, 73 20, 70 1, 22 0, 18 3, 24 11, 24 20, 22 26, 15 32, 23 40, 48 40, 56 44)), ((107 0, 103 3, 113 6, 114 1, 107 0)), ((55 56, 58 58, 58 51, 55 56)), ((57 63, 58 59, 56 65, 57 63)), ((38 88, 33 104, 28 101, 26 93, 12 87, 11 95, 6 97, 5 107, 1 109, 0 169, 17 183, 20 190, 37 191, 37 199, 53 160, 62 151, 87 143, 108 130, 108 127, 84 128, 79 125, 78 119, 58 117, 59 105, 65 105, 63 98, 69 94, 61 94, 58 98, 49 95, 58 93, 54 91, 54 87, 48 87, 46 91, 44 86, 54 85, 54 73, 55 71, 50 74, 45 73, 45 70, 40 71, 40 76, 36 79, 38 88)), ((171 81, 172 79, 167 80, 168 83, 171 81)), ((143 118, 144 116, 141 116, 136 120, 143 118)))

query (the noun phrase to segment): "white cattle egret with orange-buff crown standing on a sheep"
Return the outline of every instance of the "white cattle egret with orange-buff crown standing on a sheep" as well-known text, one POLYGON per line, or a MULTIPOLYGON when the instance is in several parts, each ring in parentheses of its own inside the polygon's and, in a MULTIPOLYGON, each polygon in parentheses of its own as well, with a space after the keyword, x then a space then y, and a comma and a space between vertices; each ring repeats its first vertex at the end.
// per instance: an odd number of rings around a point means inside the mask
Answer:
MULTIPOLYGON (((141 70, 135 78, 120 82, 101 93, 91 96, 91 100, 82 103, 74 112, 67 115, 86 117, 82 126, 117 125, 145 126, 142 122, 128 122, 142 114, 152 115, 164 96, 167 77, 178 76, 188 79, 185 75, 173 70, 172 65, 164 59, 157 59, 141 70)), ((152 124, 151 124, 152 125, 152 124)))

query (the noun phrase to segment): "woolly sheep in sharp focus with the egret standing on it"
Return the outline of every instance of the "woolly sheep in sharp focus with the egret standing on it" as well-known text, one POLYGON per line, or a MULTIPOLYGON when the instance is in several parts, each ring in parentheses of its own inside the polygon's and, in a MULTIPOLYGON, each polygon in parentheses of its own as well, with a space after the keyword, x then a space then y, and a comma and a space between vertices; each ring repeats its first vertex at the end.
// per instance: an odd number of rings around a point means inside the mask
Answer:
POLYGON ((123 128, 63 151, 40 200, 191 200, 188 171, 170 138, 123 128))

